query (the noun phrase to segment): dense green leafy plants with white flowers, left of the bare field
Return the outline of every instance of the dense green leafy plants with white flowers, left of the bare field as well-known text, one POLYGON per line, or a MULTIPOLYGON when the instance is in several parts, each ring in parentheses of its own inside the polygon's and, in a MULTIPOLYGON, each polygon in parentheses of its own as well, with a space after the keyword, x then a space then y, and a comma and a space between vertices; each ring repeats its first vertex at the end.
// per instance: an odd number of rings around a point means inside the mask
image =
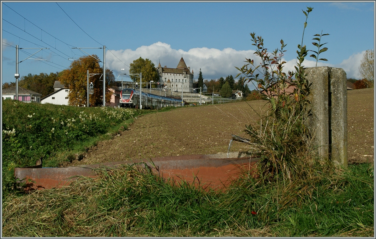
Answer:
POLYGON ((35 165, 77 142, 105 134, 135 109, 79 108, 3 100, 3 170, 35 165))

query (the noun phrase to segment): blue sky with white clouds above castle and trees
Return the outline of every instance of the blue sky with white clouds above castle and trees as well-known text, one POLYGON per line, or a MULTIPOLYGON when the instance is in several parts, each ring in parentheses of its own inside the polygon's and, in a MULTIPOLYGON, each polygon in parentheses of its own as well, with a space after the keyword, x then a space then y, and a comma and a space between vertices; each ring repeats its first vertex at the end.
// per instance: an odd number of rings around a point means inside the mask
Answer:
MULTIPOLYGON (((307 6, 309 13, 304 45, 314 34, 329 33, 322 41, 328 51, 318 66, 343 68, 347 77, 359 78, 363 53, 374 49, 374 2, 2 2, 2 82, 15 81, 15 45, 51 48, 19 64, 20 76, 59 72, 84 53, 72 47, 106 45, 106 67, 115 77, 136 58, 149 58, 158 66, 176 67, 183 56, 204 79, 237 75, 244 58, 253 57, 250 33, 264 38, 274 50, 283 39, 285 70, 296 63, 302 41, 307 6), (59 5, 58 5, 59 4, 59 5), (60 7, 65 11, 60 8, 60 7), (10 7, 10 8, 9 8, 10 7), (76 24, 67 16, 73 19, 76 24), (13 25, 12 25, 13 24, 13 25), (42 29, 42 30, 41 30, 42 29), (85 33, 85 32, 87 33, 85 33), (89 36, 88 36, 89 35, 89 36)), ((36 49, 20 50, 19 60, 36 49)), ((84 49, 103 58, 102 49, 84 49)), ((305 66, 314 66, 307 58, 305 66)))

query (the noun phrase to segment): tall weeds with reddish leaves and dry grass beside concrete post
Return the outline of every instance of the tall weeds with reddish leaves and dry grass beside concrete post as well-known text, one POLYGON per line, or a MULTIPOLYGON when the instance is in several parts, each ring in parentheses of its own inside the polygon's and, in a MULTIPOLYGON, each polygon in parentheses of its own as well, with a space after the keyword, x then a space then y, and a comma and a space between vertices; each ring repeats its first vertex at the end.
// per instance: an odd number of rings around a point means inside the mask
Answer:
MULTIPOLYGON (((250 136, 249 151, 261 159, 259 173, 262 177, 271 180, 291 181, 294 178, 305 177, 304 168, 312 164, 316 157, 311 155, 309 142, 311 132, 306 126, 306 119, 311 114, 308 110, 310 86, 312 83, 306 79, 303 61, 308 54, 308 49, 303 45, 304 31, 307 26, 309 13, 313 8, 307 7, 303 13, 306 16, 304 23, 302 44, 298 45, 297 66, 295 72, 283 72, 285 61, 285 44, 280 40, 281 46, 272 53, 264 47, 264 39, 251 33, 252 45, 256 46, 254 53, 260 60, 255 64, 254 60, 246 59, 246 64, 238 68, 241 74, 246 76, 248 82, 257 85, 260 96, 268 100, 270 109, 261 115, 258 124, 249 125, 246 128, 250 136)), ((327 35, 327 34, 324 34, 327 35)), ((313 55, 316 60, 321 52, 327 48, 320 47, 319 43, 313 44, 318 47, 317 53, 313 55)), ((316 36, 316 35, 315 35, 316 36)), ((312 55, 311 55, 312 56, 312 55)))

